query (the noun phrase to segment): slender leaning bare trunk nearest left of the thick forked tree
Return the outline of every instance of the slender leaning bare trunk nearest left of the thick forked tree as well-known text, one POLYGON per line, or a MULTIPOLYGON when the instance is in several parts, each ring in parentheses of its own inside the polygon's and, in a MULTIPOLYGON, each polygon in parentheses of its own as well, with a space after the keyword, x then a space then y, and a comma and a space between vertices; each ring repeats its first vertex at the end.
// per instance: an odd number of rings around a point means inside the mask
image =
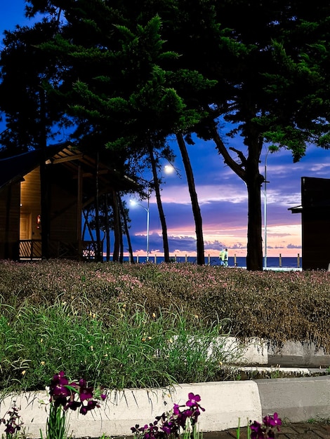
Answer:
POLYGON ((187 183, 190 193, 190 199, 192 201, 192 213, 194 215, 194 225, 196 231, 197 240, 197 264, 205 264, 204 255, 204 238, 203 238, 203 226, 202 226, 202 215, 199 209, 199 203, 197 198, 197 192, 194 184, 194 174, 192 173, 192 166, 190 164, 190 158, 187 153, 187 147, 185 146, 185 140, 183 139, 182 133, 176 134, 176 139, 178 140, 178 145, 180 148, 180 153, 183 159, 183 166, 185 166, 185 174, 187 175, 187 183))

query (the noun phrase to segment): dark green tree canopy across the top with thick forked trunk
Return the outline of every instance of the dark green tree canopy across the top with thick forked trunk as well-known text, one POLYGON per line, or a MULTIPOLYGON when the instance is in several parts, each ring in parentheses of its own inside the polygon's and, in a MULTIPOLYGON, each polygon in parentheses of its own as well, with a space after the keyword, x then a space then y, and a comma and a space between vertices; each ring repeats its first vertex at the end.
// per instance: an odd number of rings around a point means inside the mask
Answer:
MULTIPOLYGON (((293 161, 310 143, 330 145, 329 3, 316 0, 311 8, 284 0, 29 0, 28 5, 29 15, 49 16, 53 33, 37 44, 40 59, 49 63, 38 69, 51 68, 43 86, 75 119, 77 137, 105 145, 123 160, 146 151, 150 139, 164 143, 171 133, 188 143, 192 133, 213 140, 246 183, 246 265, 262 269, 263 145, 290 149, 293 161), (224 123, 232 124, 227 133, 224 123), (237 135, 240 149, 231 143, 237 135)), ((1 56, 8 78, 10 63, 1 56)), ((13 114, 5 104, 1 108, 13 114)))

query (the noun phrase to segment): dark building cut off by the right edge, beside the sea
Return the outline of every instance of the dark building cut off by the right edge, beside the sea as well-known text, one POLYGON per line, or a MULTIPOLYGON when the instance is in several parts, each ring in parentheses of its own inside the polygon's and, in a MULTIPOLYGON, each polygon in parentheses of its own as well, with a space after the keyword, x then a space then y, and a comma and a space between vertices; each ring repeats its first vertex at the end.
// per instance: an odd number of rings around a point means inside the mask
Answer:
POLYGON ((330 179, 301 177, 303 270, 328 269, 330 264, 330 179))

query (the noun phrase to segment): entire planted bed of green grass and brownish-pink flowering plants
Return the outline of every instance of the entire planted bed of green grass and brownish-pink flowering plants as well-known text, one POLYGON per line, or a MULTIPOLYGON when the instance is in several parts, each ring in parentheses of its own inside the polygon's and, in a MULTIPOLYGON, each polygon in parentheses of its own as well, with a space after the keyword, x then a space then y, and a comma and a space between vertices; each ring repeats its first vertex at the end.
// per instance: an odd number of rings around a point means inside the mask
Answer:
POLYGON ((229 332, 329 352, 329 327, 327 272, 0 261, 1 389, 59 370, 116 389, 211 381, 239 354, 229 332))

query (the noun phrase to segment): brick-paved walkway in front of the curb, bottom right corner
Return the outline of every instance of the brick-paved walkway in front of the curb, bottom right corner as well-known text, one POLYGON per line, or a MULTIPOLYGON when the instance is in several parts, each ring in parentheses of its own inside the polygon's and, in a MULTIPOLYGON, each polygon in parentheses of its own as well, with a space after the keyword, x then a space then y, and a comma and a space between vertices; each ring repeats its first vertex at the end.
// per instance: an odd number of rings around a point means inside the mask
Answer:
MULTIPOLYGON (((247 428, 241 428, 239 439, 247 438, 247 428)), ((233 439, 237 438, 236 428, 219 431, 218 433, 204 433, 204 439, 233 439)), ((281 426, 277 439, 330 439, 330 424, 309 424, 307 422, 281 426)))

